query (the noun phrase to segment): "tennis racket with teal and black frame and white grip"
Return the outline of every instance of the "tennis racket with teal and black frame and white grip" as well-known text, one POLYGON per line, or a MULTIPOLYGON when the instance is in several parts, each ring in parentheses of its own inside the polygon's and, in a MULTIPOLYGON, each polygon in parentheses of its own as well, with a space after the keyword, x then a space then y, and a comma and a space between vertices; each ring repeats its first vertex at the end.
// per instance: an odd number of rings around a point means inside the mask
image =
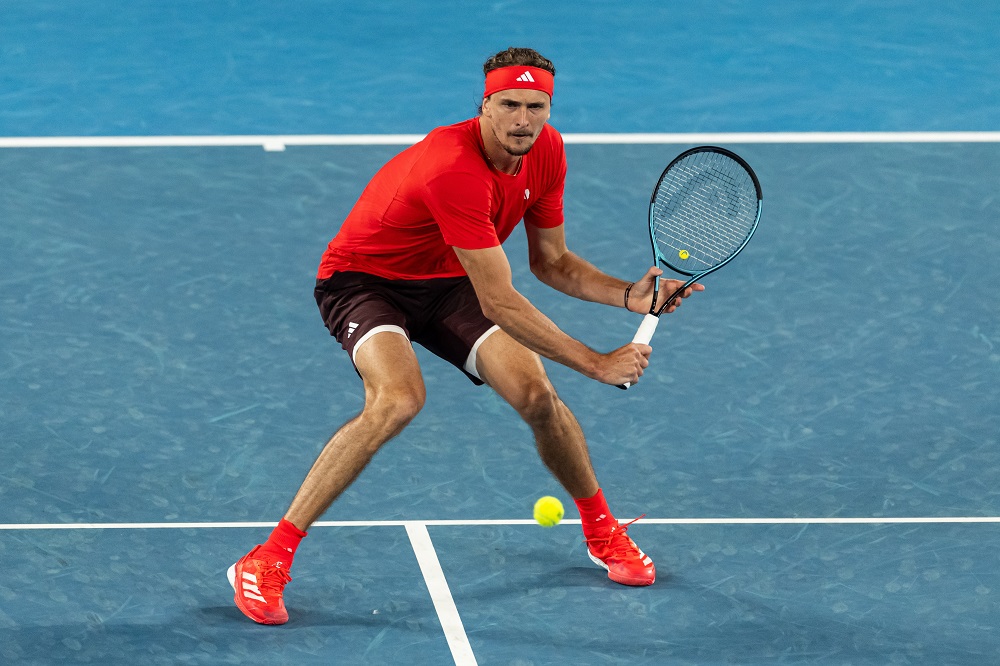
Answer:
POLYGON ((649 199, 653 261, 689 279, 659 305, 656 280, 653 305, 632 342, 649 344, 660 314, 677 296, 746 247, 760 222, 762 199, 753 169, 725 148, 692 148, 667 165, 649 199))

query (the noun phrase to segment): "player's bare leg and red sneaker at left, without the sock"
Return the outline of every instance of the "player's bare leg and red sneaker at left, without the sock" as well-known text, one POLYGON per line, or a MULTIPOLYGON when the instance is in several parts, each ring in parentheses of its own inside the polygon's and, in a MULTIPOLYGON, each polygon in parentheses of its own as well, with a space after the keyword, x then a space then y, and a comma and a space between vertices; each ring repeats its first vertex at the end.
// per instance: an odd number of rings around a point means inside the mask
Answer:
MULTIPOLYGON (((358 347, 355 365, 365 385, 365 406, 326 443, 296 493, 283 522, 306 530, 358 477, 387 441, 413 420, 424 404, 425 390, 409 340, 395 332, 373 335, 358 347)), ((259 545, 229 570, 236 605, 262 624, 288 620, 282 592, 291 580, 290 558, 259 545), (288 561, 283 561, 288 560, 288 561)))

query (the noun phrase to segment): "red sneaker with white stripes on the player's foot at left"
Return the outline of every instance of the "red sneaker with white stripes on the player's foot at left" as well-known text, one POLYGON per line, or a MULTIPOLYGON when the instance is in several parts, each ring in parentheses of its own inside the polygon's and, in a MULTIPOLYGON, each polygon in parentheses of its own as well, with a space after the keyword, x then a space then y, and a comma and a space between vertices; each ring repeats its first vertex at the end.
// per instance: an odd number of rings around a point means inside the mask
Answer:
POLYGON ((263 553, 254 554, 260 546, 229 567, 229 584, 236 592, 236 606, 254 622, 284 624, 288 622, 285 600, 281 598, 285 585, 292 580, 283 562, 263 553), (237 586, 238 583, 238 586, 237 586))

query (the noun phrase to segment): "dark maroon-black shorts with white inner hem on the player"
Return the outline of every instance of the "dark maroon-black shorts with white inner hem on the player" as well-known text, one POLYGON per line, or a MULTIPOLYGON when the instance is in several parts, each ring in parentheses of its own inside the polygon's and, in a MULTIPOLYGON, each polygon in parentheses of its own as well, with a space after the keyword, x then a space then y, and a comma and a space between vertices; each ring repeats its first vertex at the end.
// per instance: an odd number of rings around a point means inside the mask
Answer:
POLYGON ((483 314, 468 277, 389 280, 345 271, 317 280, 314 294, 330 335, 351 362, 369 337, 392 331, 483 383, 476 351, 499 327, 483 314))

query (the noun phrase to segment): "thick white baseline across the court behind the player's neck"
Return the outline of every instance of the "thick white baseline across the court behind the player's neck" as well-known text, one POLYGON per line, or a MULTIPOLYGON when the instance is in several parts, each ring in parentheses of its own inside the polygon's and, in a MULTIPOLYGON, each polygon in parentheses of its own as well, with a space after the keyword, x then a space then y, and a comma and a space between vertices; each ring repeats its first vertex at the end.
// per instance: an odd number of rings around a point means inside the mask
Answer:
MULTIPOLYGON (((35 136, 0 137, 0 148, 183 148, 259 146, 392 146, 414 144, 423 134, 275 134, 232 136, 35 136)), ((706 143, 997 143, 1000 132, 695 132, 566 133, 567 144, 706 143)))

